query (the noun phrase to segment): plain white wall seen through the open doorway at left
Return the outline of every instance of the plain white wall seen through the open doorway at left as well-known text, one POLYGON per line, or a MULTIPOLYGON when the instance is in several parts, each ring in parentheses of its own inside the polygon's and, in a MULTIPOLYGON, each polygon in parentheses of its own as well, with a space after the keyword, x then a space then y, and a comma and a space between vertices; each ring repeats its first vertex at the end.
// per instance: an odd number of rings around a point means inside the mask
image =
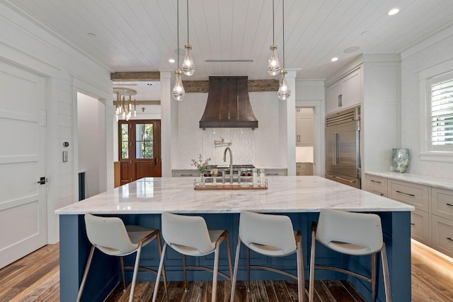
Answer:
MULTIPOLYGON (((77 93, 79 172, 85 172, 85 198, 106 190, 105 105, 77 93)), ((79 184, 80 185, 80 184, 79 184)))

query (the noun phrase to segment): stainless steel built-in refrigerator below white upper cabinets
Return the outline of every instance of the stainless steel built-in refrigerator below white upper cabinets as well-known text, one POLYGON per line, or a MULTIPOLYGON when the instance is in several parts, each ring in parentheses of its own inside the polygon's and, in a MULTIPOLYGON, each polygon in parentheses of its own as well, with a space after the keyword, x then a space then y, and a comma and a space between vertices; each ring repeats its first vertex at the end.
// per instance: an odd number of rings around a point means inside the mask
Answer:
POLYGON ((360 106, 326 116, 326 178, 361 187, 360 106))

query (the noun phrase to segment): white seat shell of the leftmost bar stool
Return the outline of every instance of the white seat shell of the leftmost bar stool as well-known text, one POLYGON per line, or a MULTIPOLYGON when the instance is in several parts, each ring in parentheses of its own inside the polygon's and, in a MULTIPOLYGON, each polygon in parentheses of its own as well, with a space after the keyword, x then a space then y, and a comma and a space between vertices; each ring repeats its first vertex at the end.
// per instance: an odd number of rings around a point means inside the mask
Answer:
POLYGON ((86 235, 91 244, 107 255, 128 255, 138 245, 130 241, 125 223, 118 217, 85 214, 86 235))

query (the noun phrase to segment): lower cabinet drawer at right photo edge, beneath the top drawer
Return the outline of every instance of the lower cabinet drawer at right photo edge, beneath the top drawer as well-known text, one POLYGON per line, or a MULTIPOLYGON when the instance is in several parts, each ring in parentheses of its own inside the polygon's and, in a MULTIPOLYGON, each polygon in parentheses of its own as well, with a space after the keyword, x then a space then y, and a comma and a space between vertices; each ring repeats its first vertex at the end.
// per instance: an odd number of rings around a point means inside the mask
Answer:
POLYGON ((432 248, 453 257, 453 221, 431 215, 432 248))

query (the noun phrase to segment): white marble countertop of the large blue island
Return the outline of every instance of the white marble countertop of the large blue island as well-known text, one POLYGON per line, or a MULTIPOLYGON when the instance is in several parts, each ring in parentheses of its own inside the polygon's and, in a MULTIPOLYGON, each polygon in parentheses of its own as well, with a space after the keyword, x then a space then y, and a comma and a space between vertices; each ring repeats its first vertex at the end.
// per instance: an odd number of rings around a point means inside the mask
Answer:
POLYGON ((194 190, 193 178, 142 178, 57 209, 55 214, 413 211, 392 199, 318 176, 274 176, 268 190, 194 190))

